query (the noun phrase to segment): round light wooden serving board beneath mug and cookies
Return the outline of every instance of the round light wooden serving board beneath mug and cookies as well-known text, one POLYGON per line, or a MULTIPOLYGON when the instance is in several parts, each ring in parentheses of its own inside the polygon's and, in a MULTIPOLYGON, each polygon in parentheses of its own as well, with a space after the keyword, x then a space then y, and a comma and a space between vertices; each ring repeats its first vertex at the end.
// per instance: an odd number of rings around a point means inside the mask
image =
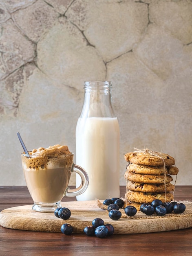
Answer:
MULTIPOLYGON (((61 232, 61 225, 73 226, 74 233, 84 233, 84 227, 91 225, 95 218, 102 218, 104 224, 113 225, 114 234, 138 234, 185 229, 192 227, 192 202, 186 204, 181 214, 167 214, 164 217, 146 216, 138 212, 134 217, 111 220, 106 210, 97 206, 97 201, 62 202, 62 207, 71 210, 71 217, 62 220, 54 213, 39 213, 31 209, 32 205, 12 207, 0 212, 0 225, 10 229, 31 231, 61 232)), ((123 210, 122 210, 123 213, 123 210)))

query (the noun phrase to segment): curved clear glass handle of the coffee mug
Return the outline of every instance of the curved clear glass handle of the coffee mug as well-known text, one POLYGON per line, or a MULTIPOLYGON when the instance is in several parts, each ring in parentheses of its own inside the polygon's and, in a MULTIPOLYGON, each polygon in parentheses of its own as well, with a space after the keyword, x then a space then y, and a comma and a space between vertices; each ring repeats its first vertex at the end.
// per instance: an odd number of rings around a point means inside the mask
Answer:
POLYGON ((64 196, 81 195, 83 192, 86 191, 86 189, 88 187, 88 183, 89 183, 88 174, 81 166, 79 166, 77 164, 73 164, 72 172, 79 174, 82 179, 82 182, 81 182, 80 186, 78 186, 78 188, 76 188, 76 189, 67 188, 64 196))

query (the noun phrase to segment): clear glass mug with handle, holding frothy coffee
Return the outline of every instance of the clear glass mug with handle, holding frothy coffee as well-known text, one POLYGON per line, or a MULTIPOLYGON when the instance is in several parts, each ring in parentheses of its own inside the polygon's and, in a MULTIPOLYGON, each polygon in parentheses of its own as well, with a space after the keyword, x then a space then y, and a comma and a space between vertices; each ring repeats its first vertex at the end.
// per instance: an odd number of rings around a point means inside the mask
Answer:
POLYGON ((61 206, 64 196, 77 196, 88 187, 86 171, 73 163, 73 153, 68 155, 29 155, 22 153, 22 167, 29 193, 34 201, 32 209, 53 212, 61 206), (71 173, 77 173, 82 182, 76 189, 69 189, 71 173))

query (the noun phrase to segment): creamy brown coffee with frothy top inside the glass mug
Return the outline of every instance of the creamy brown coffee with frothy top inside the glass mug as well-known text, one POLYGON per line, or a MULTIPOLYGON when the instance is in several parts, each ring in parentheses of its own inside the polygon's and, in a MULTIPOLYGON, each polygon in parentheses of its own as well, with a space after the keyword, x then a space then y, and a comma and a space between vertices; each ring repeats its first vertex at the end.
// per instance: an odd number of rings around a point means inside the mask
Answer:
POLYGON ((27 187, 36 203, 56 203, 62 200, 73 166, 73 153, 68 146, 54 145, 33 149, 29 157, 22 155, 27 187))

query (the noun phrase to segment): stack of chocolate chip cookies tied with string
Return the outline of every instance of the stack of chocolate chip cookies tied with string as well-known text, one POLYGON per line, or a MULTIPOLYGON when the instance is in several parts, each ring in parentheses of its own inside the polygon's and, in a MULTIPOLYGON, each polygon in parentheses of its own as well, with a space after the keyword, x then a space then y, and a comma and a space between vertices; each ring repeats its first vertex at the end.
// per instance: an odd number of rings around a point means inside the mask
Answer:
POLYGON ((128 162, 125 206, 133 205, 139 210, 141 204, 151 203, 155 199, 162 202, 174 200, 171 193, 174 185, 170 183, 173 178, 170 175, 177 175, 179 170, 173 166, 173 157, 148 149, 130 152, 124 157, 128 162))

